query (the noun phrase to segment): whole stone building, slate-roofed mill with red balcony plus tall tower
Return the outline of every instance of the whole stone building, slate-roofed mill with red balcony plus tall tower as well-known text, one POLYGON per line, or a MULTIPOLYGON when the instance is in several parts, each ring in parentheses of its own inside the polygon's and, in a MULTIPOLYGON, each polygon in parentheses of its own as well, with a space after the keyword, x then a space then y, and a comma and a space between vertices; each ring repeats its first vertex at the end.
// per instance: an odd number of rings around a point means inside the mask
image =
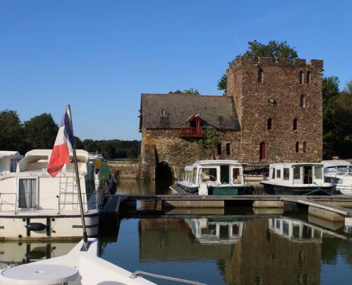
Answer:
POLYGON ((323 61, 242 56, 226 71, 227 95, 142 94, 141 177, 160 165, 178 177, 199 159, 312 162, 322 156, 323 61), (217 143, 202 147, 207 129, 217 143))

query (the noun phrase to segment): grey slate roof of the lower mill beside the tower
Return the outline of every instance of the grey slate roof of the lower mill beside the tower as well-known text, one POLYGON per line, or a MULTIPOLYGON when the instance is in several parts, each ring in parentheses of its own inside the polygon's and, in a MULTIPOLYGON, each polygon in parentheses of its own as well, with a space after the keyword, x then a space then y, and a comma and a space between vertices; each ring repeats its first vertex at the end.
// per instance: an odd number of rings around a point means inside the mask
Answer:
POLYGON ((142 94, 139 129, 178 129, 198 113, 218 130, 240 130, 232 97, 186 94, 142 94))

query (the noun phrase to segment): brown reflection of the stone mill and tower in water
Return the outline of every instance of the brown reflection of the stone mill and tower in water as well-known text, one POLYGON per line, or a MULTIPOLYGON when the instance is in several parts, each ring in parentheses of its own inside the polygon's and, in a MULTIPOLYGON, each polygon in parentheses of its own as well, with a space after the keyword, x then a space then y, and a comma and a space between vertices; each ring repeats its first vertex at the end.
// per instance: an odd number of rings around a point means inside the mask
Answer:
POLYGON ((226 284, 320 284, 321 232, 267 217, 141 219, 140 261, 215 260, 226 284))

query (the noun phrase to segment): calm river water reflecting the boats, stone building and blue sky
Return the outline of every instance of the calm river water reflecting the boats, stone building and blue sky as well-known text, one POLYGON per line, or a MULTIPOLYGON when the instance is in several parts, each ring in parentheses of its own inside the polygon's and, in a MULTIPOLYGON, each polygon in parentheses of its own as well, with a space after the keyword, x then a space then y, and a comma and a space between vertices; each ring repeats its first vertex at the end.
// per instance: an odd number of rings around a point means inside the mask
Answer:
MULTIPOLYGON (((119 192, 162 194, 164 185, 122 181, 119 192)), ((351 284, 352 231, 305 211, 258 214, 251 207, 196 215, 123 219, 100 238, 103 259, 216 284, 351 284), (350 232, 350 233, 348 233, 350 232)), ((28 262, 65 254, 74 242, 0 244, 0 260, 28 262)), ((150 279, 157 284, 169 281, 150 279)))

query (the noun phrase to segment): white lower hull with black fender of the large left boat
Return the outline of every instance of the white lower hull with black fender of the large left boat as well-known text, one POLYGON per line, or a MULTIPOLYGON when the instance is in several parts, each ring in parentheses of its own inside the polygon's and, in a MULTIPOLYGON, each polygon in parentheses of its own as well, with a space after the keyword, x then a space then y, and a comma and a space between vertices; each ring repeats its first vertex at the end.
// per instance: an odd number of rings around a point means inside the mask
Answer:
MULTIPOLYGON (((96 237, 99 213, 85 216, 88 237, 96 237)), ((0 216, 0 239, 82 238, 80 215, 0 216)))

